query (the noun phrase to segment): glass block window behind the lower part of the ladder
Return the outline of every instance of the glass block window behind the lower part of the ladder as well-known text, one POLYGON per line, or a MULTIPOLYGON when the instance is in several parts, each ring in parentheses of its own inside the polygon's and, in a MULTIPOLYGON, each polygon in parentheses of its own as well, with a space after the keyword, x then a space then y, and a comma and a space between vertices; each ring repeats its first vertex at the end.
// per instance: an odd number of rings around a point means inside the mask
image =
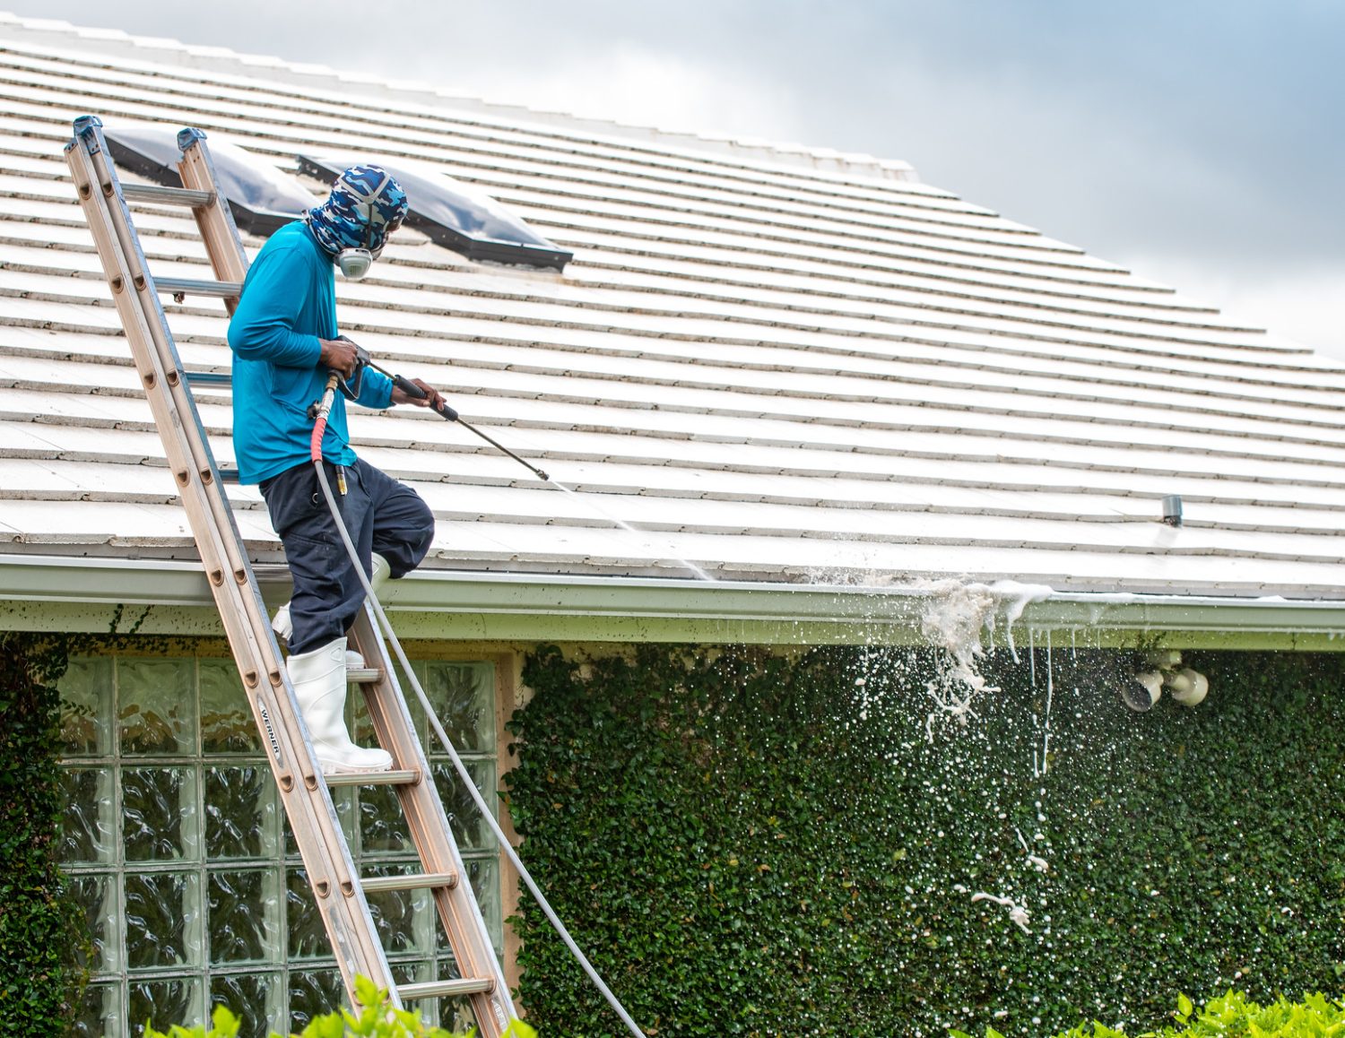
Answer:
MULTIPOLYGON (((413 666, 477 787, 494 791, 494 666, 413 666)), ((245 1016, 245 1038, 265 1038, 342 1004, 340 973, 233 660, 87 657, 70 666, 61 691, 63 856, 94 937, 74 1034, 200 1023, 226 1002, 245 1016)), ((348 711, 355 738, 373 745, 354 688, 348 711)), ((425 718, 414 706, 412 715, 425 740, 425 718)), ((425 745, 499 953, 495 840, 447 754, 425 745)), ((390 789, 340 788, 334 799, 362 873, 417 863, 390 789)), ((456 976, 428 891, 371 895, 370 908, 402 983, 456 976)), ((445 1027, 469 1022, 449 1000, 420 1008, 445 1027)))

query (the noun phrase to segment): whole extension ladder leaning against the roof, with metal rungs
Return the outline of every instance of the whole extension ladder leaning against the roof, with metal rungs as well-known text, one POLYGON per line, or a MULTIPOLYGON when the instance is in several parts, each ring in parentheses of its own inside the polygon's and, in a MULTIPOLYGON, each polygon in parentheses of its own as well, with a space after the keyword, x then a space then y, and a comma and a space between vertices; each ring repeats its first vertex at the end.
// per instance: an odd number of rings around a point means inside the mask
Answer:
POLYGON ((498 1038, 515 1016, 508 986, 467 879, 424 748, 393 675, 373 609, 366 604, 351 633, 352 644, 366 663, 377 666, 364 672, 351 672, 351 676, 360 683, 379 744, 393 756, 393 770, 324 777, 308 730, 300 719, 295 690, 281 662, 257 577, 234 524, 219 469, 196 413, 190 376, 183 371, 159 301, 159 293, 208 296, 222 298, 233 313, 247 273, 247 255, 238 229, 215 186, 206 134, 198 129, 184 129, 178 134, 183 187, 149 187, 118 180, 101 126, 94 116, 77 118, 74 137, 66 145, 66 160, 187 510, 249 706, 269 748, 276 785, 346 991, 355 1004, 355 976, 363 975, 386 988, 397 1007, 416 999, 465 995, 476 1015, 477 1033, 483 1038, 498 1038), (128 202, 191 208, 218 280, 155 280, 128 202), (335 785, 393 785, 422 871, 362 879, 332 805, 330 789, 335 785), (461 979, 394 983, 366 894, 413 889, 432 891, 461 979))

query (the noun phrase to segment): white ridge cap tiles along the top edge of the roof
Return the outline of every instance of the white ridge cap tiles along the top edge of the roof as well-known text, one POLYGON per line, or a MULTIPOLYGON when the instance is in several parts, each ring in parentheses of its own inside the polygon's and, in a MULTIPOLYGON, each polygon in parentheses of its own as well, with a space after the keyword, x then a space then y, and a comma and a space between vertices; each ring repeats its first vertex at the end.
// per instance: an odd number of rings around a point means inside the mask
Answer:
POLYGON ((404 102, 438 108, 449 104, 463 112, 487 114, 495 118, 514 120, 531 125, 541 124, 572 132, 605 134, 623 140, 638 140, 670 149, 714 152, 738 160, 804 167, 814 172, 862 176, 877 180, 913 183, 920 179, 915 167, 900 159, 878 159, 862 152, 842 152, 834 148, 769 141, 761 137, 707 136, 691 130, 642 126, 619 122, 617 120, 535 109, 526 105, 506 105, 486 98, 452 93, 422 81, 383 79, 371 73, 343 73, 319 63, 289 62, 262 54, 242 54, 229 47, 188 44, 167 36, 136 36, 122 30, 85 28, 61 19, 23 17, 8 11, 0 11, 0 28, 9 32, 17 31, 28 42, 39 44, 74 44, 79 50, 102 54, 117 52, 139 58, 148 63, 176 65, 219 73, 256 75, 258 70, 265 70, 277 82, 311 90, 338 87, 343 90, 360 90, 367 94, 370 89, 374 89, 387 98, 404 102))

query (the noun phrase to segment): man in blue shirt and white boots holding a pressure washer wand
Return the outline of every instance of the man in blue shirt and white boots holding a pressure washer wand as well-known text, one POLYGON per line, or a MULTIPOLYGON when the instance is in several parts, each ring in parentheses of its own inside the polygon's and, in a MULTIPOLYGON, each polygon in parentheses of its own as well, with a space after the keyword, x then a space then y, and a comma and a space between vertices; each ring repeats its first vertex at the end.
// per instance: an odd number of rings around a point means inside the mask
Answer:
MULTIPOLYGON (((359 460, 350 448, 344 397, 366 407, 394 403, 438 407, 438 391, 414 381, 417 398, 363 364, 354 343, 338 337, 335 269, 362 278, 406 216, 406 192, 377 165, 342 173, 331 196, 270 237, 247 272, 229 324, 234 352, 234 452, 242 483, 261 485, 272 526, 293 575, 291 601, 273 627, 289 647, 289 676, 328 774, 391 768, 382 749, 351 742, 344 707, 346 632, 364 589, 342 545, 311 463, 315 405, 331 372, 342 376, 321 440, 328 483, 364 573, 375 584, 420 565, 434 536, 434 516, 409 487, 359 460)), ((351 659, 348 659, 351 657, 351 659)))

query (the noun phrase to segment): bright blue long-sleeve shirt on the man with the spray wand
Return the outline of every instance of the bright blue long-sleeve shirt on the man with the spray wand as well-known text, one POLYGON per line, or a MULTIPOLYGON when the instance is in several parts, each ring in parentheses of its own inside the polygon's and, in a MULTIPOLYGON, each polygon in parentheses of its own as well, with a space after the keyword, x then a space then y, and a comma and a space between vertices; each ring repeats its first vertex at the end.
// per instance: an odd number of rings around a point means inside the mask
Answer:
MULTIPOLYGON (((234 453, 243 483, 261 483, 309 460, 313 422, 308 406, 323 395, 328 371, 319 366, 320 339, 336 337, 336 277, 331 257, 296 221, 276 231, 243 281, 229 323, 234 351, 234 453)), ((364 370, 356 403, 387 407, 393 383, 364 370)), ((338 394, 323 436, 323 457, 355 461, 338 394)))

